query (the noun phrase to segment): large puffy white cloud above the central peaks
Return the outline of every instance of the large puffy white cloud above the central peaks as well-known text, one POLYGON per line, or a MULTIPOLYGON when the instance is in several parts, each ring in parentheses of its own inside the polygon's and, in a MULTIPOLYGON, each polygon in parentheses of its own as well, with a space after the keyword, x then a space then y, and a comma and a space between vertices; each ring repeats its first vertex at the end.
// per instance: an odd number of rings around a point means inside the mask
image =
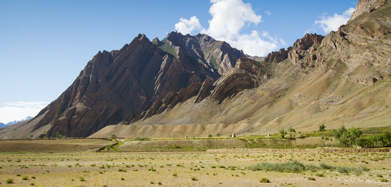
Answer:
POLYGON ((184 31, 187 31, 185 32, 187 34, 200 29, 201 33, 208 34, 216 40, 226 41, 232 47, 241 49, 251 56, 266 56, 271 51, 279 49, 282 44, 285 45, 282 39, 270 37, 269 34, 260 36, 255 30, 250 34, 241 33, 243 28, 262 22, 262 17, 255 14, 250 3, 244 3, 242 0, 211 0, 211 2, 213 4, 209 13, 212 19, 208 21, 209 28, 198 27, 201 24, 193 16, 190 20, 181 18, 180 22, 175 24, 175 29, 182 34, 184 31), (190 22, 193 24, 186 24, 190 22))

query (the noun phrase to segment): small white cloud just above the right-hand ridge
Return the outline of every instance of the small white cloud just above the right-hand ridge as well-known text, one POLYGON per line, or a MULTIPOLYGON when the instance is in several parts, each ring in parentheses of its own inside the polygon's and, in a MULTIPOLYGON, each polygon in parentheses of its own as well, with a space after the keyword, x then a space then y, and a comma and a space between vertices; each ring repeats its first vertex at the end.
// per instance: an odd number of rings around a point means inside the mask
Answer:
POLYGON ((354 10, 354 8, 350 7, 349 9, 344 11, 342 15, 335 13, 333 14, 333 16, 320 16, 321 19, 315 21, 315 25, 320 27, 324 33, 329 33, 330 31, 337 31, 339 26, 346 24, 354 10))

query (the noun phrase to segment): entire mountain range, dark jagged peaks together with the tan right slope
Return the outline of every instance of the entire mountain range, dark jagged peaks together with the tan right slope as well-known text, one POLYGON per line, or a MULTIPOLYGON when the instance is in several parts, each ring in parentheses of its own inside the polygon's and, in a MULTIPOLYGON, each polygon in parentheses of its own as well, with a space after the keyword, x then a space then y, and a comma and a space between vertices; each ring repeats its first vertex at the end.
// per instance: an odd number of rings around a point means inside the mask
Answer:
POLYGON ((99 52, 58 99, 0 138, 390 125, 390 0, 360 0, 353 15, 336 32, 306 34, 265 58, 202 34, 171 32, 161 41, 140 34, 121 50, 99 52))

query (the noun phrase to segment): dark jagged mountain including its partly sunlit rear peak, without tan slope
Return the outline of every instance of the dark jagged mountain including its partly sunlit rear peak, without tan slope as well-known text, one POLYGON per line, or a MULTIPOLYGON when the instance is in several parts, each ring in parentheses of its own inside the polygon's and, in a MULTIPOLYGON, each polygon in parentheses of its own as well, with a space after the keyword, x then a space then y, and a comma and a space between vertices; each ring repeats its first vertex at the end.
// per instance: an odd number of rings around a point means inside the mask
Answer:
POLYGON ((106 125, 149 117, 159 103, 164 110, 194 96, 204 81, 216 81, 244 56, 207 35, 171 32, 151 42, 139 34, 118 51, 96 54, 29 129, 34 135, 85 137, 106 125))

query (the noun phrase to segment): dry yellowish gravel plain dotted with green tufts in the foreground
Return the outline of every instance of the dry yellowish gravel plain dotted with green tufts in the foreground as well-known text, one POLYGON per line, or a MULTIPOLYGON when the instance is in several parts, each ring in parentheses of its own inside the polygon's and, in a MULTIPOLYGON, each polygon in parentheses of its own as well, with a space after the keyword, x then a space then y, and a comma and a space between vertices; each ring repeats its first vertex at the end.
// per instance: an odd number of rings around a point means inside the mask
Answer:
MULTIPOLYGON (((0 142, 2 147, 6 143, 0 142)), ((111 144, 106 141, 103 144, 111 144)), ((59 143, 60 146, 68 143, 59 143)), ((102 144, 102 145, 103 145, 102 144)), ((2 152, 3 187, 389 187, 391 153, 322 153, 289 149, 220 149, 148 152, 2 152), (261 162, 299 161, 362 167, 360 175, 332 170, 298 173, 251 171, 261 162), (7 179, 13 179, 7 184, 7 179), (27 179, 26 179, 27 178, 27 179), (260 183, 266 178, 270 183, 260 183), (26 179, 26 180, 23 180, 26 179), (309 180, 312 179, 312 180, 309 180), (382 182, 383 181, 383 182, 382 182), (387 182, 386 182, 387 181, 387 182)))

